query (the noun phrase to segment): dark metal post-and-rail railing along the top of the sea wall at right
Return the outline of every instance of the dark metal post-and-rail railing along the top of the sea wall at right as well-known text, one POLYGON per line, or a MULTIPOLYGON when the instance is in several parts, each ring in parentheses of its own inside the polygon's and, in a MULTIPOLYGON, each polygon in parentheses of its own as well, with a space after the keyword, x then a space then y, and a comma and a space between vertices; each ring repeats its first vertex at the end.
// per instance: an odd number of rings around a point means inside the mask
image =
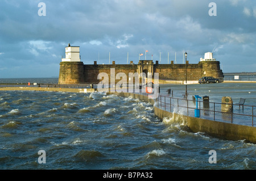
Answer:
MULTIPOLYGON (((224 103, 204 102, 199 100, 197 100, 197 103, 198 107, 196 108, 195 100, 173 98, 166 95, 159 95, 158 98, 156 98, 156 106, 161 110, 179 112, 182 108, 181 113, 184 115, 187 114, 187 116, 195 116, 193 110, 200 110, 200 117, 203 119, 229 121, 234 124, 251 125, 254 127, 254 117, 256 116, 254 111, 256 110, 256 106, 243 105, 243 108, 241 108, 239 104, 228 104, 232 106, 233 111, 224 112, 221 109, 221 105, 224 103), (203 108, 201 104, 203 104, 203 108), (201 113, 203 114, 201 115, 201 113)), ((225 105, 227 104, 225 103, 225 105)))

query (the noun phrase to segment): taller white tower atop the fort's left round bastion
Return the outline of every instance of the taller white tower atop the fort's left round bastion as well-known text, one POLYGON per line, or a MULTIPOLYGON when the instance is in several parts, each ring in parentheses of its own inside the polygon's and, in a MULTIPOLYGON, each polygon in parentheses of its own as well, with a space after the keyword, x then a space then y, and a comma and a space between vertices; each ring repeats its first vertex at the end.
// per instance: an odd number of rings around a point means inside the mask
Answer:
POLYGON ((68 44, 68 47, 65 47, 65 58, 61 58, 61 61, 63 62, 80 62, 80 47, 71 47, 70 44, 68 44))

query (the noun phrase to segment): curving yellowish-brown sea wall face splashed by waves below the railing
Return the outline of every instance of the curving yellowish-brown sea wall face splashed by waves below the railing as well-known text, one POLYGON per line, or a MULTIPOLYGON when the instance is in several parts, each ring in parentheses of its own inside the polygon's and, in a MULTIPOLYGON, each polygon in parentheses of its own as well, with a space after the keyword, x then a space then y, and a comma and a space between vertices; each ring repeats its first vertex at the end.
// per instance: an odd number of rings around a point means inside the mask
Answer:
MULTIPOLYGON (((153 99, 149 99, 146 95, 139 95, 133 93, 125 93, 125 92, 115 92, 115 95, 118 96, 131 96, 135 99, 140 99, 145 102, 150 102, 154 105, 155 101, 153 99)), ((201 119, 199 117, 190 117, 185 115, 179 115, 177 113, 172 113, 168 111, 164 111, 154 106, 155 116, 159 117, 159 119, 164 119, 164 117, 172 118, 177 121, 185 121, 187 127, 192 132, 204 132, 209 134, 210 136, 226 139, 226 140, 246 140, 249 142, 253 142, 256 144, 256 127, 250 127, 246 125, 238 125, 232 123, 224 123, 220 121, 201 119), (182 120, 179 120, 182 119, 182 120)))

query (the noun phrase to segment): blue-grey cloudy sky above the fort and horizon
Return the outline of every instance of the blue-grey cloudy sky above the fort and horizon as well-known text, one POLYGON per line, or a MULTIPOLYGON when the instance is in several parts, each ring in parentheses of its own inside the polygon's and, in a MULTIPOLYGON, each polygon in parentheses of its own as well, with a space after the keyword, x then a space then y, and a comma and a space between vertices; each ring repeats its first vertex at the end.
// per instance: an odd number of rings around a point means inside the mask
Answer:
POLYGON ((256 71, 251 0, 1 0, 0 78, 58 77, 65 47, 84 64, 197 64, 213 52, 224 73, 256 71), (44 6, 40 4, 44 3, 44 6), (212 5, 212 2, 214 5, 212 5), (139 54, 143 56, 139 57, 139 54), (176 53, 176 61, 175 61, 176 53))

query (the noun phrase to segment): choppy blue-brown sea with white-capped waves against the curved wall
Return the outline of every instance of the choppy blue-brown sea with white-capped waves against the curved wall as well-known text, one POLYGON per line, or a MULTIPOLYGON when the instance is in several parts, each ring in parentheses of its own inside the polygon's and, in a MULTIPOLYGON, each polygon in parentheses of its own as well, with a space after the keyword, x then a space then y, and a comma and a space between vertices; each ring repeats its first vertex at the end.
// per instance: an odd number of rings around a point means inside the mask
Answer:
POLYGON ((255 155, 255 144, 189 132, 182 116, 161 121, 138 99, 0 91, 0 169, 256 169, 255 155))

